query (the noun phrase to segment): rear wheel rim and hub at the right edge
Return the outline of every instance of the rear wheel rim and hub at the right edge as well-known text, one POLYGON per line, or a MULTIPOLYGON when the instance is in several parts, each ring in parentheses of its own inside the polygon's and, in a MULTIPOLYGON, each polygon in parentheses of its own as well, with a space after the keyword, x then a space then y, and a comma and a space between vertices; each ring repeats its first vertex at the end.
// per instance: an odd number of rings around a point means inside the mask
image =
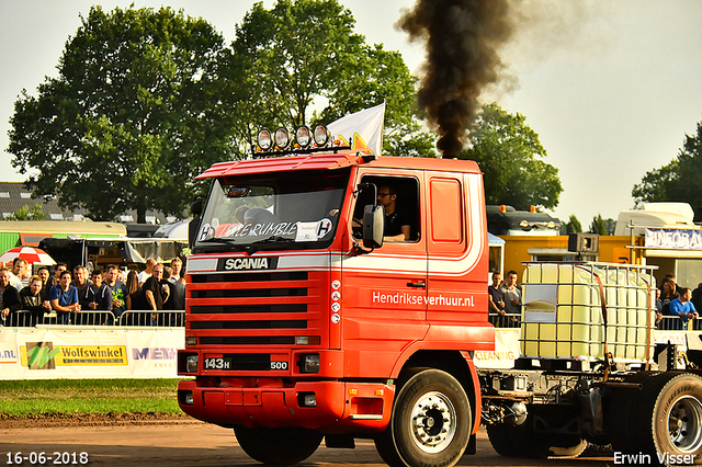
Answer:
POLYGON ((694 453, 702 446, 702 403, 692 396, 676 401, 668 414, 670 441, 683 453, 694 453))

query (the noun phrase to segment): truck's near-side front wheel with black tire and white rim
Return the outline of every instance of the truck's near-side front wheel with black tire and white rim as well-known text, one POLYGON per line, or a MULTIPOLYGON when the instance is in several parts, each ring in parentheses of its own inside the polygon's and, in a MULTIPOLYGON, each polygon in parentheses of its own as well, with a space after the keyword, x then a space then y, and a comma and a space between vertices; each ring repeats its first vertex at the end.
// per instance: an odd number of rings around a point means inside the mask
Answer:
POLYGON ((445 372, 424 369, 399 390, 390 425, 375 445, 392 467, 450 467, 463 456, 472 426, 461 383, 445 372))

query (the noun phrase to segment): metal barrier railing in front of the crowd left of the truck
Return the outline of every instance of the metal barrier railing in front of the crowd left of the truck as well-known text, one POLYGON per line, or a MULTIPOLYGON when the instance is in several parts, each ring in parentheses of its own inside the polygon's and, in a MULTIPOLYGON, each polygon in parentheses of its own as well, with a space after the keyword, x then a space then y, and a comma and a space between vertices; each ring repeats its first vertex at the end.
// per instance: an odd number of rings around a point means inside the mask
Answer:
POLYGON ((126 310, 118 317, 112 311, 78 311, 44 314, 42 317, 33 316, 31 311, 20 310, 11 312, 2 318, 0 326, 35 327, 37 324, 70 324, 70 326, 152 326, 176 328, 185 326, 185 310, 126 310))

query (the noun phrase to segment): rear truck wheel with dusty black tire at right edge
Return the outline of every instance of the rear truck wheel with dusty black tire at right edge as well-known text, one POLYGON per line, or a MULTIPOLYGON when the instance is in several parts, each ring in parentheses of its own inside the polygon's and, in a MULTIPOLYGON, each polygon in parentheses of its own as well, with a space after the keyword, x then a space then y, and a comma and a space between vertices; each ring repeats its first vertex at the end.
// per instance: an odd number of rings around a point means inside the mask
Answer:
POLYGON ((631 412, 633 453, 652 459, 666 454, 671 464, 688 464, 679 456, 694 456, 694 464, 702 464, 702 378, 690 373, 657 375, 644 383, 631 412))

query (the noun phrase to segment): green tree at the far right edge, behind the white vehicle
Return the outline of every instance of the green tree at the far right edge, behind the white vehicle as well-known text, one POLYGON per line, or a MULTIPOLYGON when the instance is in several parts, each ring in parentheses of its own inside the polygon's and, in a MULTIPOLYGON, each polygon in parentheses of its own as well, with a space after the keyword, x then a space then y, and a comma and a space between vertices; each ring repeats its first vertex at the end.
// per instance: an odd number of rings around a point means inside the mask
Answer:
POLYGON ((678 157, 669 164, 646 172, 634 185, 632 196, 636 203, 677 201, 702 206, 702 122, 694 136, 686 135, 678 157))

